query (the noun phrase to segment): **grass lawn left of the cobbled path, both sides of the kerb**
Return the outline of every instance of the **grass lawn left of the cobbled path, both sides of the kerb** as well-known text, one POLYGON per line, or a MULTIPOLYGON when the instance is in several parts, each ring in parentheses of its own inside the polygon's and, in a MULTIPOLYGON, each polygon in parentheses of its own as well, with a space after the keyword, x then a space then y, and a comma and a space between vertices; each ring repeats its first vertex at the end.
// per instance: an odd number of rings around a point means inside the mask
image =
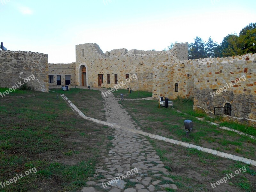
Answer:
MULTIPOLYGON (((93 99, 97 104, 86 108, 97 113, 89 115, 105 118, 99 92, 65 94, 81 106, 93 99)), ((0 182, 36 168, 0 191, 80 191, 111 145, 110 128, 78 117, 55 92, 17 90, 1 97, 0 120, 0 182)))

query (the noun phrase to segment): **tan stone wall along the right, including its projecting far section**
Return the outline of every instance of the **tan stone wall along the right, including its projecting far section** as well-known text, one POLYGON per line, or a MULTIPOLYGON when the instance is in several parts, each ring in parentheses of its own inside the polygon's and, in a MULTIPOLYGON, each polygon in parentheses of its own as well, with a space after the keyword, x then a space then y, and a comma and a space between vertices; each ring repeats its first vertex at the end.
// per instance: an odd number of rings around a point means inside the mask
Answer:
POLYGON ((153 99, 192 98, 194 109, 256 124, 256 53, 237 57, 168 61, 153 68, 153 99), (178 83, 178 92, 175 84, 178 83), (214 112, 216 109, 216 112, 214 112))

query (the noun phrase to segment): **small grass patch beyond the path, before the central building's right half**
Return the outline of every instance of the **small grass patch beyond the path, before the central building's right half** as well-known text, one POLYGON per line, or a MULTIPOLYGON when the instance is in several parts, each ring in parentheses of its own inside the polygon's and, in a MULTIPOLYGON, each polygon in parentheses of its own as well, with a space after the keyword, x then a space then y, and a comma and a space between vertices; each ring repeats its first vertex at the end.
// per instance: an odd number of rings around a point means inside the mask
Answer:
POLYGON ((152 97, 152 92, 147 91, 133 91, 132 93, 128 93, 128 89, 118 89, 114 91, 113 94, 115 97, 120 98, 120 94, 124 94, 124 99, 138 99, 138 98, 146 98, 152 97))

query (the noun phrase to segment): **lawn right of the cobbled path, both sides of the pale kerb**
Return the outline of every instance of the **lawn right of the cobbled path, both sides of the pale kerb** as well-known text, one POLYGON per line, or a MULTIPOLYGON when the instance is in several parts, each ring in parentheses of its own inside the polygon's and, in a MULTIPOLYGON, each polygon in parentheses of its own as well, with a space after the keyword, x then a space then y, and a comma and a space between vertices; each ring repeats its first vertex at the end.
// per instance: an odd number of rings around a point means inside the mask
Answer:
MULTIPOLYGON (((197 120, 195 116, 200 116, 202 113, 193 111, 191 100, 174 102, 175 109, 162 107, 158 109, 158 102, 149 100, 124 100, 119 103, 143 131, 256 160, 255 140, 197 120), (184 131, 186 119, 192 120, 194 125, 189 138, 185 137, 184 131)), ((150 138, 148 140, 164 162, 165 168, 172 172, 172 175, 167 177, 174 180, 179 191, 256 191, 256 168, 254 166, 196 149, 184 148, 150 138), (234 175, 234 172, 243 166, 246 172, 240 173, 227 183, 220 184, 217 188, 211 187, 211 183, 222 179, 226 174, 233 173, 234 175)), ((157 180, 157 178, 154 179, 157 180)), ((172 191, 168 188, 165 190, 172 191)))

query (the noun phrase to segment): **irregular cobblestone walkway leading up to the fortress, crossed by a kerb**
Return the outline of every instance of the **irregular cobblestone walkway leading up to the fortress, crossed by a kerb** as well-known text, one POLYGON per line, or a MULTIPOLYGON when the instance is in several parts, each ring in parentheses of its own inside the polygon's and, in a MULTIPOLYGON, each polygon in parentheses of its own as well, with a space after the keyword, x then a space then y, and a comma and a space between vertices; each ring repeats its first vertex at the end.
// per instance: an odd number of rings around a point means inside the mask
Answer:
MULTIPOLYGON (((140 129, 112 93, 103 97, 103 102, 107 122, 140 129)), ((164 177, 170 173, 144 136, 120 129, 116 129, 112 135, 114 148, 107 156, 100 157, 104 163, 96 168, 95 177, 103 175, 104 178, 96 181, 91 178, 87 182, 90 187, 84 187, 83 192, 164 192, 166 187, 177 189, 175 184, 169 184, 173 182, 171 178, 164 177), (127 182, 132 184, 124 189, 127 182)))

